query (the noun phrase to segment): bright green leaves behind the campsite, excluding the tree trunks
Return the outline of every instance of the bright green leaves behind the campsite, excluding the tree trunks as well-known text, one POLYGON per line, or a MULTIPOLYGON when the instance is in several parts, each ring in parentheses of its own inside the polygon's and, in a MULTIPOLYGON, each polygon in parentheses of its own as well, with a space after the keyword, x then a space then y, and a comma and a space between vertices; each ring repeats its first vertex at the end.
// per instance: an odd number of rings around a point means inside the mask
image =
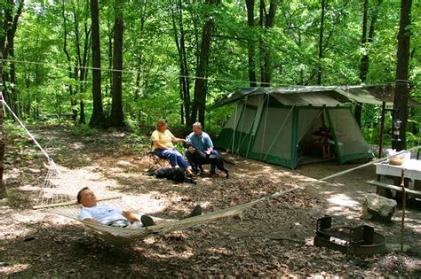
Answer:
MULTIPOLYGON (((177 0, 134 1, 124 5, 123 110, 126 124, 132 130, 153 127, 159 118, 169 120, 174 127, 183 126, 180 116, 179 52, 174 36, 181 34, 182 25, 192 101, 203 24, 208 14, 214 21, 211 57, 207 68, 208 108, 227 92, 249 87, 249 42, 255 51, 253 58, 258 80, 261 48, 266 46, 270 50, 274 86, 315 84, 319 66, 322 66, 324 85, 359 84, 363 53, 369 55, 367 84, 394 81, 400 17, 398 1, 382 2, 373 42, 364 46, 361 46, 361 1, 327 2, 322 59, 318 58, 320 1, 277 1, 273 28, 259 27, 258 1, 255 1, 254 7, 254 27, 247 24, 244 1, 221 1, 218 5, 206 5, 204 1, 181 1, 181 7, 178 7, 178 3, 177 0)), ((369 2, 369 21, 376 3, 369 2)), ((112 67, 112 50, 109 46, 113 38, 113 2, 100 1, 99 9, 102 66, 108 68, 112 67)), ((419 14, 421 6, 413 4, 410 94, 421 101, 419 14)), ((17 84, 12 85, 19 92, 21 118, 37 120, 37 116, 43 114, 79 111, 79 102, 83 101, 86 120, 89 121, 92 109, 91 70, 85 81, 78 81, 74 77, 74 66, 81 63, 76 54, 83 49, 85 40, 89 43, 87 65, 91 66, 91 37, 85 37, 85 27, 86 30, 91 28, 88 2, 29 1, 26 4, 15 38, 14 58, 33 63, 16 63, 17 84), (63 50, 65 22, 70 62, 63 50), (68 71, 68 66, 72 67, 72 71, 68 71), (70 92, 73 92, 73 97, 70 92)), ((10 65, 5 65, 5 68, 10 69, 10 65)), ((103 105, 108 116, 112 105, 111 74, 108 71, 102 71, 101 74, 103 105)), ((206 128, 218 133, 230 112, 230 106, 208 110, 206 128)), ((364 135, 374 143, 378 138, 376 131, 380 110, 368 105, 362 113, 364 135)), ((419 109, 410 112, 409 133, 412 136, 409 135, 409 144, 415 143, 419 136, 420 115, 419 109)), ((52 122, 57 124, 54 120, 52 122)), ((389 122, 386 127, 390 128, 389 122)), ((75 136, 91 136, 96 133, 86 126, 73 129, 75 136)))

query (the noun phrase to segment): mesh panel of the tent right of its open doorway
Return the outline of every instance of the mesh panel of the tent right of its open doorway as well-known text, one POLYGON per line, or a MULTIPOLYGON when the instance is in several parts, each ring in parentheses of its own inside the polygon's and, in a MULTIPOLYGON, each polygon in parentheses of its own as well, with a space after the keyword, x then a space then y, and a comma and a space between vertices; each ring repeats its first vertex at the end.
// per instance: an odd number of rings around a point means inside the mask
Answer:
POLYGON ((365 142, 349 109, 330 109, 329 114, 341 156, 369 151, 369 144, 365 142))

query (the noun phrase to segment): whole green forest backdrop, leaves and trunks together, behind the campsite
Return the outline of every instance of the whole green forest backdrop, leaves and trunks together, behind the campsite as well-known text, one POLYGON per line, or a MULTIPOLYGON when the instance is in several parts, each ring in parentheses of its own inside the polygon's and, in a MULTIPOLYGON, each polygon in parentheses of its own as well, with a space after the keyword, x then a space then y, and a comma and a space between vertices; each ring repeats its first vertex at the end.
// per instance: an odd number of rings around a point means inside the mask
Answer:
MULTIPOLYGON (((72 112, 79 124, 97 114, 104 127, 164 117, 218 130, 231 108, 207 107, 236 88, 396 80, 400 1, 1 2, 3 90, 27 120, 72 112)), ((418 101, 420 15, 416 1, 408 85, 418 101)), ((378 134, 380 109, 355 112, 368 137, 378 134)), ((418 142, 420 114, 409 109, 410 145, 418 142)), ((391 121, 388 115, 389 128, 391 121)))

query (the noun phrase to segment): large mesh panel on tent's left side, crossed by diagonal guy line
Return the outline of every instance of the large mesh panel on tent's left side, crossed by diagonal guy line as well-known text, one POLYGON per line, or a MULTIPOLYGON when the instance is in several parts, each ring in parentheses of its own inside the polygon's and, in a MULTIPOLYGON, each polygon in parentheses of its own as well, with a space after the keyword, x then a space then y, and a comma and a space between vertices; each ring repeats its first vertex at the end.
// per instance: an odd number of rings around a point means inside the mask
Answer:
POLYGON ((291 125, 292 112, 290 113, 290 108, 265 108, 260 118, 252 151, 260 153, 262 159, 266 159, 266 154, 267 156, 290 159, 291 125))

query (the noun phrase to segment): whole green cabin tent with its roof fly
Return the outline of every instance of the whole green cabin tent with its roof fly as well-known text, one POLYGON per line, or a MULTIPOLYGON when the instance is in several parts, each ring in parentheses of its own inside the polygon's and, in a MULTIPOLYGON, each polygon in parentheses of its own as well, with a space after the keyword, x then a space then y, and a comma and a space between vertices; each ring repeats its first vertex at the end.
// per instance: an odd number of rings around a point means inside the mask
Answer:
MULTIPOLYGON (((388 88, 345 86, 291 86, 237 89, 218 107, 236 102, 234 112, 221 130, 215 146, 250 159, 290 167, 307 143, 325 130, 325 145, 340 164, 372 158, 369 144, 353 118, 353 100, 370 104, 386 102, 388 88)), ((311 149, 311 146, 310 146, 311 149)))

